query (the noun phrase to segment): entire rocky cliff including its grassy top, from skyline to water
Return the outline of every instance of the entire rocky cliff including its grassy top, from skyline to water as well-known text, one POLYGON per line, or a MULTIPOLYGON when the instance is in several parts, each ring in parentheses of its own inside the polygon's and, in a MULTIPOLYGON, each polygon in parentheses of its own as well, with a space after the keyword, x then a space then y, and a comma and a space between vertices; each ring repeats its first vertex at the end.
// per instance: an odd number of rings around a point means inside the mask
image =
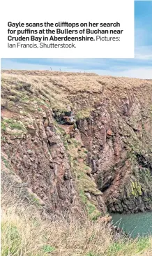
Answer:
POLYGON ((152 83, 3 71, 1 147, 48 213, 152 210, 152 83))

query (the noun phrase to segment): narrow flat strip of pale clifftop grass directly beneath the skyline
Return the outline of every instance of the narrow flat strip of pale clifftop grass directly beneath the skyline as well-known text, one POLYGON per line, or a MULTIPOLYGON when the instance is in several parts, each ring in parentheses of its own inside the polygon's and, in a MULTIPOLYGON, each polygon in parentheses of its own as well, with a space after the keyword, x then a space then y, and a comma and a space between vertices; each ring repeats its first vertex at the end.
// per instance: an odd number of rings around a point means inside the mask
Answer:
POLYGON ((43 79, 47 83, 53 83, 58 87, 63 87, 71 92, 100 92, 102 86, 107 88, 128 88, 144 87, 150 85, 151 80, 138 78, 125 78, 113 76, 98 76, 96 73, 70 73, 56 71, 1 71, 2 78, 17 77, 34 80, 38 83, 43 79), (37 78, 37 79, 36 79, 37 78), (50 80, 49 80, 50 79, 50 80))

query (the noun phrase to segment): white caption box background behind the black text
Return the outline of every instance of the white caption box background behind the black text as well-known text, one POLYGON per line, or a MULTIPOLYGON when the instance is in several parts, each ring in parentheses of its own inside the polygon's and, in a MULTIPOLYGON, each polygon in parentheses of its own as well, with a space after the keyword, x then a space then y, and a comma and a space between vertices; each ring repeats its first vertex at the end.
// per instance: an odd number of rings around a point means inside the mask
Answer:
MULTIPOLYGON (((47 57, 47 58, 130 58, 134 57, 134 1, 133 0, 26 0, 3 1, 1 3, 1 57, 47 57), (77 48, 8 48, 8 22, 120 22, 123 34, 101 34, 121 36, 121 41, 65 41, 75 43, 77 48)), ((61 27, 64 29, 66 27, 61 27)), ((10 27, 11 29, 11 27, 10 27)), ((13 29, 13 28, 12 28, 13 29)), ((15 29, 15 28, 14 28, 15 29)), ((25 29, 25 27, 20 27, 25 29)), ((36 29, 36 27, 31 27, 36 29)), ((43 29, 43 27, 39 28, 43 29)), ((44 28, 46 29, 46 28, 44 28)), ((52 29, 50 27, 50 29, 52 29)), ((74 29, 77 29, 75 27, 74 29)), ((95 28, 96 29, 96 28, 95 28)), ((99 29, 108 29, 99 27, 99 29)), ((25 34, 23 36, 31 36, 25 34)), ((38 36, 38 34, 35 34, 38 36)), ((40 35, 42 36, 42 35, 40 35)), ((47 36, 47 35, 45 35, 47 36)), ((51 35, 49 35, 51 36, 51 35)), ((66 36, 61 34, 58 36, 66 36)), ((79 36, 79 34, 73 34, 79 36)), ((82 34, 81 34, 82 36, 82 34)), ((88 36, 92 36, 88 34, 88 36)), ((10 41, 10 43, 16 43, 10 41)), ((22 41, 21 43, 25 43, 22 41)), ((26 43, 33 43, 27 41, 26 43)), ((36 42, 34 42, 36 43, 36 42)), ((48 42, 45 42, 48 43, 48 42)), ((63 43, 50 41, 49 43, 63 43)))

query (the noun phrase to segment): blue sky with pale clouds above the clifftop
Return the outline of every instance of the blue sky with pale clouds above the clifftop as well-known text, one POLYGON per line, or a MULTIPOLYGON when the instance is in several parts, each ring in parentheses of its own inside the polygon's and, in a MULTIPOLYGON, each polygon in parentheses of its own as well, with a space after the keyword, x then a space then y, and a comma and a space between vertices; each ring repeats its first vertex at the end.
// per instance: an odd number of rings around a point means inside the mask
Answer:
POLYGON ((1 59, 1 69, 93 72, 102 76, 152 78, 152 1, 135 1, 134 59, 1 59))

